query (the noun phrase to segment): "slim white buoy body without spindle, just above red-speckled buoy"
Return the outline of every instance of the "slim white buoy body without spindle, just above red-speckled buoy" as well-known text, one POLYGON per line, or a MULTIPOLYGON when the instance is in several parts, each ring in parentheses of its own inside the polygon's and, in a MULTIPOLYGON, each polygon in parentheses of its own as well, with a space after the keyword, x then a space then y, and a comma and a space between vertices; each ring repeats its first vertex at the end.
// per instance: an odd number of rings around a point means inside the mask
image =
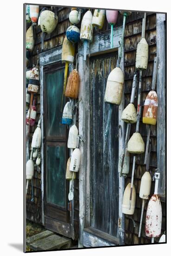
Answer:
POLYGON ((142 199, 148 199, 150 195, 152 185, 152 177, 149 172, 145 172, 144 175, 141 178, 141 184, 139 189, 139 197, 142 199))

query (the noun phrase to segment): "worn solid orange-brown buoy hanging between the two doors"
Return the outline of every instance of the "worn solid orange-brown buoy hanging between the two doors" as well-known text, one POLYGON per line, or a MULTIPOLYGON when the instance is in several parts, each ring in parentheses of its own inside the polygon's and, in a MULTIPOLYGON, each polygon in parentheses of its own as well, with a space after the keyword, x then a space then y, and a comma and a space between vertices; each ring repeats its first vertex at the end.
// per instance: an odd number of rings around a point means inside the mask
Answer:
POLYGON ((78 71, 74 69, 69 75, 66 90, 65 90, 65 96, 72 99, 77 99, 78 91, 79 91, 79 74, 78 74, 78 71))

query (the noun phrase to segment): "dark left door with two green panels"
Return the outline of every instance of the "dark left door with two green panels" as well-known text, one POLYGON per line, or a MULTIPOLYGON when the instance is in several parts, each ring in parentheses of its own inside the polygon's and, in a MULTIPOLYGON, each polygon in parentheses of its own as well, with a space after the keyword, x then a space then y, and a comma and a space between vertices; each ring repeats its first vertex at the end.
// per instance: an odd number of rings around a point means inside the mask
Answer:
MULTIPOLYGON (((67 129, 61 123, 64 67, 44 67, 44 224, 45 228, 70 237, 69 184, 65 179, 67 129)), ((63 102, 63 106, 64 106, 63 102)))

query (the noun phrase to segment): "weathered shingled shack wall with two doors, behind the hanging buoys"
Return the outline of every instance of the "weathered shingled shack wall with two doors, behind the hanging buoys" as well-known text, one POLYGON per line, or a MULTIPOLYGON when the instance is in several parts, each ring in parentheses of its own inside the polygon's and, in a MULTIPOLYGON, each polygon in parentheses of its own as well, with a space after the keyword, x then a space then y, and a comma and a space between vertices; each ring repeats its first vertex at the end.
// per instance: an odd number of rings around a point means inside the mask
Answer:
MULTIPOLYGON (((44 6, 40 6, 40 10, 44 6)), ((46 6, 51 9, 50 6, 46 6)), ((85 8, 86 9, 86 8, 85 8)), ((86 9, 88 10, 88 9, 86 9)), ((26 218, 44 225, 58 234, 79 241, 79 246, 95 247, 121 244, 146 244, 151 239, 145 234, 146 207, 143 218, 141 238, 138 238, 141 215, 139 198, 140 180, 146 170, 145 154, 139 155, 135 165, 134 186, 136 207, 133 215, 122 214, 122 198, 126 185, 131 181, 133 157, 127 177, 118 172, 119 157, 123 148, 126 125, 121 113, 130 101, 137 44, 141 38, 144 13, 133 11, 127 17, 124 38, 124 51, 121 69, 124 77, 124 94, 120 106, 114 105, 105 148, 105 128, 109 106, 104 102, 106 82, 110 71, 116 67, 120 52, 123 16, 119 14, 114 27, 114 45, 110 48, 110 26, 105 19, 102 29, 94 28, 93 42, 89 45, 87 60, 83 61, 83 44, 76 45, 74 65, 80 78, 76 125, 80 141, 81 165, 74 180, 74 200, 68 200, 69 181, 65 180, 66 164, 69 157, 67 139, 69 128, 61 124, 61 95, 63 90, 64 64, 61 62, 63 39, 70 26, 71 7, 57 7, 58 24, 49 35, 45 35, 44 49, 41 50, 41 34, 36 27, 35 45, 28 68, 37 63, 39 53, 40 90, 36 97, 36 125, 31 128, 27 142, 27 159, 31 152, 33 132, 41 116, 41 170, 34 171, 33 194, 31 184, 26 196, 26 218)), ((91 9, 92 13, 94 12, 91 9)), ((162 234, 165 226, 165 13, 147 12, 145 38, 149 46, 148 67, 142 73, 141 118, 139 132, 146 144, 147 126, 142 123, 143 105, 152 86, 154 57, 158 56, 156 90, 158 94, 158 121, 151 129, 150 170, 154 175, 158 167, 160 181, 158 193, 162 204, 162 234), (159 152, 162 148, 162 154, 159 152)), ((26 23, 26 28, 30 23, 26 23)), ((81 22, 77 25, 81 26, 81 22)), ((139 77, 138 77, 139 79, 139 77)), ((138 93, 135 95, 137 108, 138 93)), ((64 101, 68 101, 65 97, 64 101)), ((130 135, 135 131, 131 126, 130 135)), ((154 191, 152 182, 151 195, 154 191)), ((158 241, 158 239, 156 239, 158 241)))

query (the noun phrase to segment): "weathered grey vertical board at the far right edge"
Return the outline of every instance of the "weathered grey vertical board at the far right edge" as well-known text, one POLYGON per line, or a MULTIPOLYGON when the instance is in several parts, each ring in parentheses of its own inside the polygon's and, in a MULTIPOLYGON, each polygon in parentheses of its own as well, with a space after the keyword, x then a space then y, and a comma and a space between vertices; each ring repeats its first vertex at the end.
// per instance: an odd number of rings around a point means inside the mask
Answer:
POLYGON ((156 45, 158 57, 157 94, 157 162, 160 172, 158 194, 165 195, 165 14, 156 14, 156 45), (160 155, 161 150, 161 155, 160 155), (160 155, 160 157, 159 157, 160 155))

